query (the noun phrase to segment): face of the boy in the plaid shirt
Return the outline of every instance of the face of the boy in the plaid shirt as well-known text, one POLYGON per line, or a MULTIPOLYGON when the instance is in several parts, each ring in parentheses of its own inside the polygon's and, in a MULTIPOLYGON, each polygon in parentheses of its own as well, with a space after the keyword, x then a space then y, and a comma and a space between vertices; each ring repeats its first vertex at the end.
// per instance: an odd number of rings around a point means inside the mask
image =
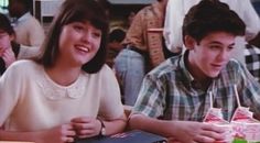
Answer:
POLYGON ((214 32, 199 43, 193 37, 185 37, 189 50, 188 70, 195 78, 214 78, 229 62, 234 45, 234 35, 226 32, 214 32))

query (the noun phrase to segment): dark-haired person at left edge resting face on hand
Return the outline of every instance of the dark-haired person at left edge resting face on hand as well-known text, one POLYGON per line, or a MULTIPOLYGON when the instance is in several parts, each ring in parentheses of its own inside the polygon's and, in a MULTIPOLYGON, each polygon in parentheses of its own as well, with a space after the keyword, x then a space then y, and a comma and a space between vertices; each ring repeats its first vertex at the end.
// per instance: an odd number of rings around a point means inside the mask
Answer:
POLYGON ((0 76, 17 59, 36 55, 39 48, 26 47, 14 42, 15 33, 9 19, 0 13, 0 76))

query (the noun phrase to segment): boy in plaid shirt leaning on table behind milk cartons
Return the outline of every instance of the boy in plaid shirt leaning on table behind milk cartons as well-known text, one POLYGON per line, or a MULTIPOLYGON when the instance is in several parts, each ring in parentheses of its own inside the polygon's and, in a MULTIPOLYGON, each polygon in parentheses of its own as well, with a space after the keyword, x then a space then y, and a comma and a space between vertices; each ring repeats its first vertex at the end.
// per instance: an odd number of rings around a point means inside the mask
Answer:
POLYGON ((238 107, 260 119, 260 86, 237 61, 230 59, 235 38, 246 25, 227 4, 202 0, 184 19, 184 55, 172 57, 149 73, 130 116, 130 127, 182 143, 215 142, 224 129, 202 123, 213 92, 214 107, 230 120, 238 107), (235 86, 236 85, 236 86, 235 86))

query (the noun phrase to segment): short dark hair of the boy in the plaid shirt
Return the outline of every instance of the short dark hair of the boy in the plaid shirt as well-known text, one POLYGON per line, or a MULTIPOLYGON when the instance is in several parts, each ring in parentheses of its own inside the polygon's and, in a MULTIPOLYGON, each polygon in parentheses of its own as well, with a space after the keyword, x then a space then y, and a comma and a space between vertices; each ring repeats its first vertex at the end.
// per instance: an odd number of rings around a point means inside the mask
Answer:
POLYGON ((183 41, 185 35, 191 35, 199 44, 209 33, 219 31, 235 36, 245 35, 246 24, 228 4, 218 0, 202 0, 184 18, 183 41))

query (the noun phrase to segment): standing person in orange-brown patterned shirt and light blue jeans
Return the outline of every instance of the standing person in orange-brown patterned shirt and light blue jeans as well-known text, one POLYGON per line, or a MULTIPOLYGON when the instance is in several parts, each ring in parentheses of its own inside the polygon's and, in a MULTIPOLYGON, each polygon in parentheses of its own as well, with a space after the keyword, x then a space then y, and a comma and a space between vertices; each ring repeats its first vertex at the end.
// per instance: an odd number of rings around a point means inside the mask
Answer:
POLYGON ((126 105, 134 105, 145 73, 173 55, 164 46, 162 32, 150 31, 163 28, 166 4, 167 0, 158 0, 134 15, 122 42, 124 48, 115 59, 126 105))

